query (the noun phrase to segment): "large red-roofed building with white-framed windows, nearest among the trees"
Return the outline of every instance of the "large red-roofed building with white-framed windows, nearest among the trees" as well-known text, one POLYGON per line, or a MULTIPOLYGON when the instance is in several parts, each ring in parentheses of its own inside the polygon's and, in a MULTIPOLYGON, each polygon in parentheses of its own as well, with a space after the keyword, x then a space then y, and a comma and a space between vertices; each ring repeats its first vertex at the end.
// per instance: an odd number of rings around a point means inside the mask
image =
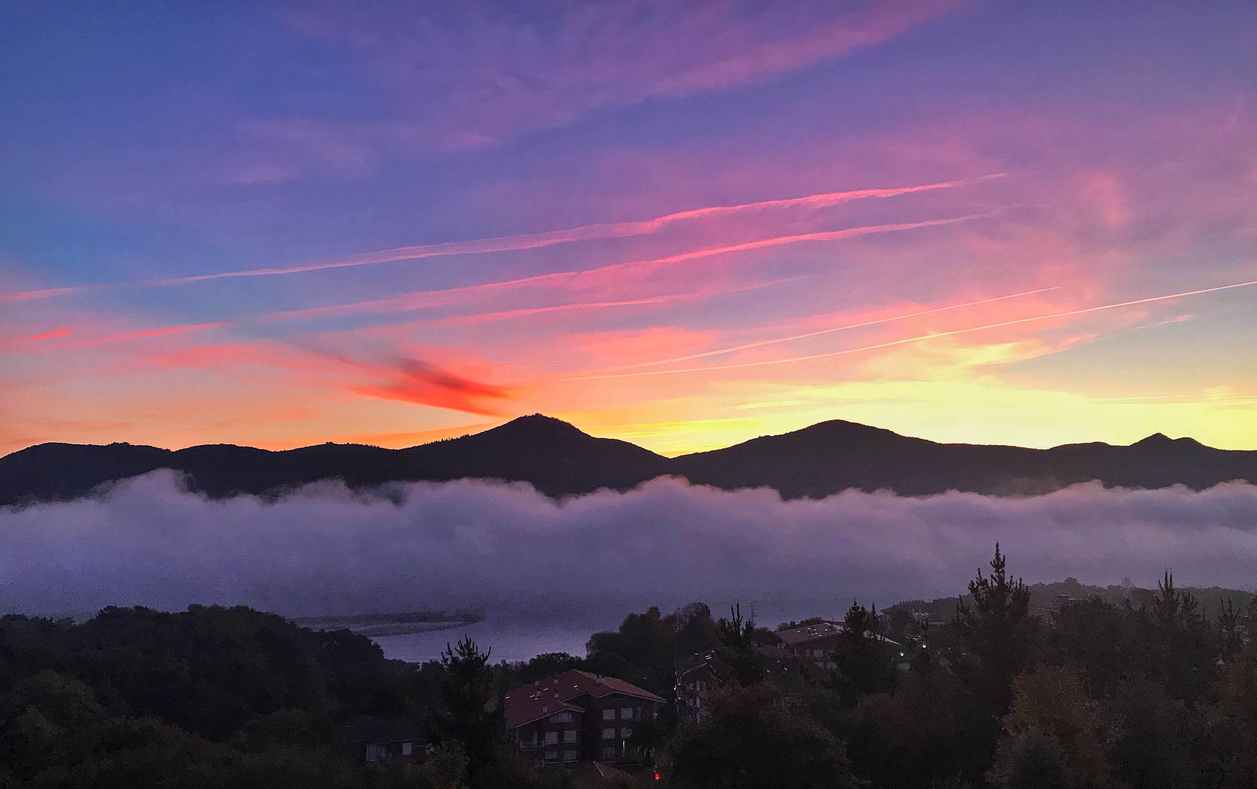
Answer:
POLYGON ((623 680, 557 673, 503 696, 508 735, 537 764, 634 761, 634 727, 654 720, 664 700, 623 680))

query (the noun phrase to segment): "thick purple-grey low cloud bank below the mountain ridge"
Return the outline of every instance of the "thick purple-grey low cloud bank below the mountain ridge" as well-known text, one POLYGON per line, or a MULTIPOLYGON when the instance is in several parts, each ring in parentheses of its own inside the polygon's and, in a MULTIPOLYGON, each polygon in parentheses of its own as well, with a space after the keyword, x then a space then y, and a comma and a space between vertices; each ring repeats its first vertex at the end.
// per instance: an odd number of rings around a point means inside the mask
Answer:
POLYGON ((999 540, 1028 582, 1257 584, 1257 486, 1076 485, 1008 499, 848 491, 782 501, 654 480, 552 501, 525 485, 312 485, 211 501, 168 471, 99 499, 0 510, 0 608, 243 603, 290 616, 483 608, 607 623, 649 604, 762 618, 957 594, 999 540))

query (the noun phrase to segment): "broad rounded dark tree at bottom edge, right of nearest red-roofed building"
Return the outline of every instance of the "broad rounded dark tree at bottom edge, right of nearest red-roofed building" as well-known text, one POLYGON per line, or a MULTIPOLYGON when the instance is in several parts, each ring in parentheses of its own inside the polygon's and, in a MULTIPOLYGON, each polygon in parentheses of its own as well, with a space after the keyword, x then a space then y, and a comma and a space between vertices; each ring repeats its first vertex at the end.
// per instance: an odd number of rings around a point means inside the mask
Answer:
POLYGON ((672 741, 671 779, 681 789, 854 789, 842 745, 768 683, 729 685, 710 715, 672 741))

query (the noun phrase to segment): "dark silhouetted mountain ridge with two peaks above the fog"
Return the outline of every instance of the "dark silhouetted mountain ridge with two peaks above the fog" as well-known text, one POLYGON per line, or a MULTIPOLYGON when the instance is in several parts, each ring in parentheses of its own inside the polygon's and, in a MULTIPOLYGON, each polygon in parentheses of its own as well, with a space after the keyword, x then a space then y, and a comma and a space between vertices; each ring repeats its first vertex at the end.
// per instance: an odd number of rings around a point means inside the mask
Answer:
POLYGON ((127 443, 43 443, 0 459, 0 505, 74 499, 104 482, 157 469, 184 472, 192 490, 211 496, 273 494, 332 479, 361 489, 464 477, 529 482, 547 495, 563 496, 601 487, 628 490, 661 475, 727 490, 773 487, 786 498, 820 498, 850 487, 903 495, 948 490, 1013 495, 1091 480, 1144 489, 1257 482, 1257 451, 1217 450, 1160 433, 1130 446, 1096 442, 1050 450, 936 443, 835 420, 669 459, 534 415, 403 450, 326 443, 287 451, 234 445, 171 451, 127 443))

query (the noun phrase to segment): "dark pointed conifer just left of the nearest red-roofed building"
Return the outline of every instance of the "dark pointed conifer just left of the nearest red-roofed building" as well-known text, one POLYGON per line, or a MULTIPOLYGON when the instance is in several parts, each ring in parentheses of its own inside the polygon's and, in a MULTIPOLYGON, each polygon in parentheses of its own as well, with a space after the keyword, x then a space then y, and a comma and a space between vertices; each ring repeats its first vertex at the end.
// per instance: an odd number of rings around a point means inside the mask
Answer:
POLYGON ((434 724, 441 743, 456 740, 463 745, 469 775, 489 764, 505 739, 503 705, 495 699, 489 667, 490 652, 481 652, 464 636, 455 646, 446 645, 441 653, 446 676, 441 683, 441 710, 434 724))

